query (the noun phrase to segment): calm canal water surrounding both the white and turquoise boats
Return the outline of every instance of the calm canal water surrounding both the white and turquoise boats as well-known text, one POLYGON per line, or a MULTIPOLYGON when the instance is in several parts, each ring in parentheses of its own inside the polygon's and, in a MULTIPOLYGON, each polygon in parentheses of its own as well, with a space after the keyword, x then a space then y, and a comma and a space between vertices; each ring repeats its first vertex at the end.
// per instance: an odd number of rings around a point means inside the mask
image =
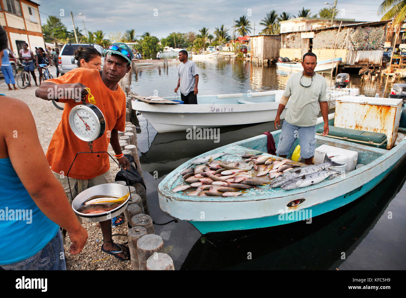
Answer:
MULTIPOLYGON (((174 54, 168 53, 168 57, 174 54)), ((283 89, 289 73, 274 66, 257 67, 246 62, 214 60, 197 62, 199 94, 283 89)), ((328 84, 330 81, 327 79, 328 84)), ((168 69, 143 68, 133 74, 132 90, 142 95, 171 96, 177 84, 176 65, 168 69)), ((360 93, 383 93, 380 81, 360 84, 351 74, 351 86, 360 93)), ((151 217, 156 223, 172 218, 159 208, 158 184, 187 160, 241 139, 273 130, 273 122, 220 128, 220 142, 187 140, 186 132, 156 133, 142 116, 138 134, 151 217)), ((312 224, 292 223, 230 236, 223 233, 207 241, 188 222, 155 225, 164 239, 166 253, 176 269, 406 269, 406 159, 375 189, 352 204, 313 218, 312 224), (388 212, 392 219, 388 219, 388 212), (343 229, 345 227, 345 229, 343 229), (245 236, 245 237, 244 237, 245 236), (230 238, 235 241, 229 241, 230 238), (342 253, 345 259, 342 259, 342 253), (248 253, 252 259, 248 260, 248 253)))

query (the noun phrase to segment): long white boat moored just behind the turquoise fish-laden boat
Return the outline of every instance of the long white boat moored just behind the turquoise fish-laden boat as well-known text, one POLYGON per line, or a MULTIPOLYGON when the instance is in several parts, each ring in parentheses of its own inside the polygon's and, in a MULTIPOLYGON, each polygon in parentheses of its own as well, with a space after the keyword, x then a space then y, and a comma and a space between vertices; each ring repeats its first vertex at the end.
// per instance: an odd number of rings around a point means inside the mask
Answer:
MULTIPOLYGON (((188 128, 219 127, 261 123, 275 120, 283 90, 264 92, 198 95, 197 105, 151 104, 132 100, 132 109, 139 111, 158 133, 184 131, 188 128)), ((357 89, 328 91, 330 108, 335 99, 344 95, 358 95, 357 89)), ((165 97, 175 100, 178 97, 165 97)), ((287 106, 289 102, 287 103, 287 106)), ((285 110, 281 119, 285 118, 285 110)))

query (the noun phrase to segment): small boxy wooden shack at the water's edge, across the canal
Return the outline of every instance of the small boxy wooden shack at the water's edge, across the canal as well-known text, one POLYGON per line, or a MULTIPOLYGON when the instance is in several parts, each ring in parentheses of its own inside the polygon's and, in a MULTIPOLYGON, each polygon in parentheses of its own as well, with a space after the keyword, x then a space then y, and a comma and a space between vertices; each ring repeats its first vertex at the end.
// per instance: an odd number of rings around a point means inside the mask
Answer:
POLYGON ((281 34, 251 36, 251 58, 263 62, 279 58, 281 34))

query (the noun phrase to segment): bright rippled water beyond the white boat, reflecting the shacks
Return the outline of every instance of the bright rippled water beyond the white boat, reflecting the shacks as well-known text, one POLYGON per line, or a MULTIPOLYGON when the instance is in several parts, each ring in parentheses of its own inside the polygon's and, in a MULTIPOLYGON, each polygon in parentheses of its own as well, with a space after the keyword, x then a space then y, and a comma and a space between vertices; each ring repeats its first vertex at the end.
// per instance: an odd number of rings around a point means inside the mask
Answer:
MULTIPOLYGON (((171 53, 166 53, 168 56, 171 53)), ((174 56, 175 54, 171 54, 174 56)), ((177 54, 176 54, 177 55, 177 54)), ((166 57, 168 58, 168 57, 166 57)), ((199 70, 199 95, 214 95, 227 93, 240 93, 266 90, 284 89, 289 78, 289 71, 278 70, 276 65, 265 64, 254 66, 244 60, 233 59, 206 59, 196 61, 199 70)), ((170 64, 162 76, 162 69, 157 66, 144 66, 138 68, 138 73, 134 74, 132 90, 138 94, 151 94, 153 90, 158 90, 160 96, 172 96, 172 90, 177 84, 177 63, 170 64)), ((350 71, 350 70, 345 70, 350 71)), ((327 86, 330 86, 330 73, 324 74, 327 86)), ((385 79, 378 77, 375 81, 361 81, 358 73, 350 73, 350 88, 359 88, 360 94, 374 97, 376 93, 383 96, 385 79)), ((331 85, 334 85, 334 77, 331 85)), ((392 86, 389 81, 387 96, 392 86)))

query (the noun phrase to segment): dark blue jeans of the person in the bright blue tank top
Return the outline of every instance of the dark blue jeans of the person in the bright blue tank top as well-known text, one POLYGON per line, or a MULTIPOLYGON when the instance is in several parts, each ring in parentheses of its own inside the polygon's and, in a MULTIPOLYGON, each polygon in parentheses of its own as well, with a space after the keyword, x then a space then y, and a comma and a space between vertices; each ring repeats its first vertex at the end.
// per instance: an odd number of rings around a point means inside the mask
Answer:
POLYGON ((0 270, 66 270, 60 230, 41 251, 25 260, 0 265, 0 270))

